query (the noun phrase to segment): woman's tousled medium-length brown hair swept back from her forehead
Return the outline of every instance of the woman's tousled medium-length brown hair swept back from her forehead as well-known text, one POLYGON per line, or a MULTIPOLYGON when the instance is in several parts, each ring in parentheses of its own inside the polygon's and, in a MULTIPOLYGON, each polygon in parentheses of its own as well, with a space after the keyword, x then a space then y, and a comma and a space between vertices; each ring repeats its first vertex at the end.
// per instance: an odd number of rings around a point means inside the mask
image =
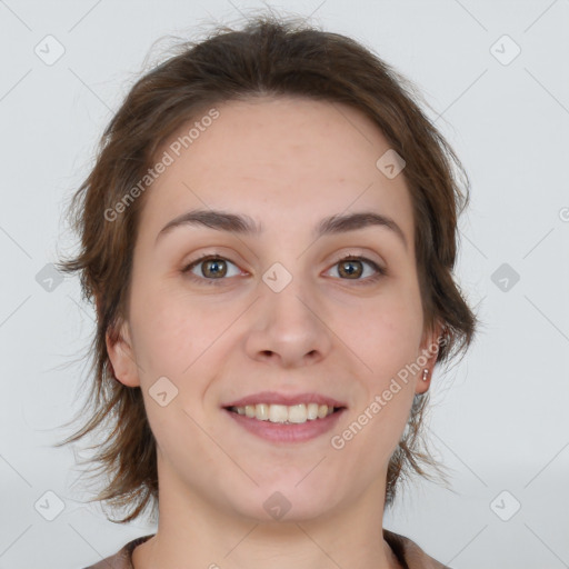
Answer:
MULTIPOLYGON (((437 362, 466 352, 477 322, 453 280, 457 218, 469 199, 468 177, 420 110, 419 94, 407 79, 350 38, 272 14, 250 18, 240 30, 218 27, 204 40, 178 48, 136 82, 104 130, 94 167, 69 208, 80 252, 59 263, 62 271, 79 272, 83 298, 96 305, 97 331, 90 346, 89 398, 78 416, 88 420, 57 446, 109 427, 104 443, 88 461, 98 465, 96 477, 101 471, 107 486, 90 501, 128 508, 126 517, 112 520, 120 523, 133 520, 152 502, 156 513, 158 502, 156 441, 142 393, 114 379, 106 347, 106 333, 117 339, 128 318, 132 252, 144 194, 121 208, 116 220, 106 212, 129 191, 132 196, 161 144, 204 109, 259 96, 306 97, 360 109, 406 161, 425 329, 445 326, 437 362), (455 169, 463 177, 465 192, 455 169)), ((393 501, 397 482, 412 470, 430 478, 421 466, 429 465, 440 472, 432 456, 421 450, 428 400, 428 392, 415 396, 406 431, 389 462, 386 507, 393 501)))

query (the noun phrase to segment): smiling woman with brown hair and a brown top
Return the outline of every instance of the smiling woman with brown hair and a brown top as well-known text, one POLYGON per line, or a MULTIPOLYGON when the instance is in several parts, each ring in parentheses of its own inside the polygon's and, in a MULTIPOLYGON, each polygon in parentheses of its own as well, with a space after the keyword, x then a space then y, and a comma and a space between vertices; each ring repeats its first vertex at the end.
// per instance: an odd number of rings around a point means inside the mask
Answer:
POLYGON ((98 316, 94 412, 63 443, 111 421, 96 499, 120 522, 157 507, 158 530, 92 568, 445 567, 382 528, 398 482, 437 467, 435 366, 476 326, 452 278, 460 164, 410 92, 273 17, 131 89, 61 264, 98 316))

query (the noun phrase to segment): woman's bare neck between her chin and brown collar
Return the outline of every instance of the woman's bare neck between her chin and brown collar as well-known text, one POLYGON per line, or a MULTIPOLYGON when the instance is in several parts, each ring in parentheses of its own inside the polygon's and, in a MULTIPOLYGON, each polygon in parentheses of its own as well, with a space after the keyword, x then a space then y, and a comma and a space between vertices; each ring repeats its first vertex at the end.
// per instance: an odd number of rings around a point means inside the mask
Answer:
MULTIPOLYGON (((310 519, 263 521, 212 506, 181 485, 160 487, 156 536, 134 549, 134 569, 397 569, 383 540, 385 483, 310 519)), ((292 511, 290 512, 292 513, 292 511)))

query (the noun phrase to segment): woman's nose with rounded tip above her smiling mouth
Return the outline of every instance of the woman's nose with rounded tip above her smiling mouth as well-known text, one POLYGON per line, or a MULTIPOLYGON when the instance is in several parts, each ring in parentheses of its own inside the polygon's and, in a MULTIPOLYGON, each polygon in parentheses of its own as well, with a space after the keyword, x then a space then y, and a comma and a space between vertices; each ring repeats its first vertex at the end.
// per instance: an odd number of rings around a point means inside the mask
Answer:
POLYGON ((330 352, 332 341, 321 302, 300 279, 276 292, 260 283, 261 298, 251 310, 246 349, 250 358, 281 368, 317 363, 330 352))

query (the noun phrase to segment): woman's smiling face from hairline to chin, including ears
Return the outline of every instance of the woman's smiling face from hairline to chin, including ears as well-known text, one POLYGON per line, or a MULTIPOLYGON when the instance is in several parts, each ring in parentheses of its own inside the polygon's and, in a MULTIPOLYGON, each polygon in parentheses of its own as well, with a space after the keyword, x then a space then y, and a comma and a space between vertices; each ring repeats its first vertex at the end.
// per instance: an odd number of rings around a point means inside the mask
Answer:
POLYGON ((159 152, 173 162, 144 196, 128 320, 122 340, 108 340, 118 379, 142 390, 161 492, 263 520, 273 505, 298 520, 370 497, 377 509, 435 361, 402 380, 435 339, 403 174, 378 169, 389 143, 349 107, 267 98, 217 109, 191 146, 176 146, 190 124, 159 152), (197 210, 244 216, 260 232, 181 220, 197 210), (383 222, 318 233, 353 213, 383 222), (340 409, 315 419, 315 402, 340 409))

